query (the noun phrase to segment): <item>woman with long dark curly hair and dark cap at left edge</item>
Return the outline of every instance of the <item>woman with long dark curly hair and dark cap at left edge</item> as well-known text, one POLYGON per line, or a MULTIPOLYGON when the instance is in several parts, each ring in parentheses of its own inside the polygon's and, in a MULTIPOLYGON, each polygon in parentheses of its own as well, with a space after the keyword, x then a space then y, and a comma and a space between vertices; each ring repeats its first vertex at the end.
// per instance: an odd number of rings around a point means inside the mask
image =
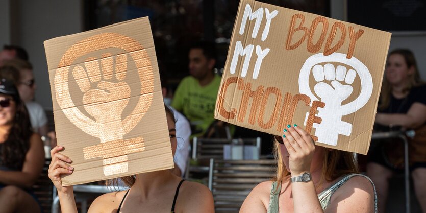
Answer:
POLYGON ((16 87, 0 79, 0 212, 41 211, 29 188, 39 178, 43 164, 43 143, 31 131, 16 87))

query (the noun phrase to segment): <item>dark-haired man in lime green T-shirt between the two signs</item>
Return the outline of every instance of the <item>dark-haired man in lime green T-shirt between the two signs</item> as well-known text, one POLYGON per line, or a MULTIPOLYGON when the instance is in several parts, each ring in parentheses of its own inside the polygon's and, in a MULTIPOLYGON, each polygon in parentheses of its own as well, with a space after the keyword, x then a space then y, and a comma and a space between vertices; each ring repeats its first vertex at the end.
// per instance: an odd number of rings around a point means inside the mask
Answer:
POLYGON ((182 112, 195 126, 191 138, 202 136, 215 121, 213 118, 220 77, 214 74, 216 48, 214 43, 200 41, 189 50, 190 76, 182 79, 174 93, 171 106, 182 112))

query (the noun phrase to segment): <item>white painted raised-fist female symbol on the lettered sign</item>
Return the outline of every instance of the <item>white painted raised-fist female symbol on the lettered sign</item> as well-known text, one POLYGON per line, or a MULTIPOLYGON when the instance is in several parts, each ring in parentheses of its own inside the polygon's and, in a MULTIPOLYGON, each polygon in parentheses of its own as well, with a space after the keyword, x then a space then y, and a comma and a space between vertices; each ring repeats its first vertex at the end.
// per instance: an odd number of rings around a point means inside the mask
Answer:
POLYGON ((329 56, 324 56, 323 53, 315 54, 305 61, 299 74, 299 92, 309 96, 312 102, 318 99, 309 87, 311 70, 316 81, 314 92, 321 98, 320 101, 325 103, 324 108, 318 108, 318 116, 322 118, 322 122, 313 126, 315 136, 318 137, 319 143, 336 146, 339 134, 349 136, 352 132, 352 124, 342 121, 342 116, 361 109, 371 97, 373 88, 371 74, 355 57, 348 59, 341 53, 329 56), (347 70, 342 65, 335 67, 328 62, 342 63, 353 69, 347 70), (326 64, 322 66, 320 63, 326 64), (361 92, 354 101, 342 105, 353 92, 352 83, 357 74, 361 81, 361 92), (331 81, 331 85, 323 82, 324 80, 331 81))

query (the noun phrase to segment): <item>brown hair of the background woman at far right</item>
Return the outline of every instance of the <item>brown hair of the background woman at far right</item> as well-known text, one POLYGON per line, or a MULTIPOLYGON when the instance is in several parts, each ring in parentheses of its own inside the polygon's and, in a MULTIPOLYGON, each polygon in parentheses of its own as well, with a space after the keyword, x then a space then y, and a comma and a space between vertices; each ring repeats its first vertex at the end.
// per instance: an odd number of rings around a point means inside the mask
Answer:
MULTIPOLYGON (((395 49, 389 53, 389 56, 393 54, 399 54, 403 56, 405 64, 407 65, 407 68, 413 67, 414 69, 414 73, 409 76, 407 87, 404 88, 404 92, 410 91, 411 88, 424 84, 424 82, 420 78, 420 73, 417 68, 416 58, 414 57, 413 52, 411 52, 408 49, 395 49)), ((388 56, 388 59, 389 59, 389 56, 388 56)), ((386 72, 385 72, 385 75, 386 75, 386 72)), ((392 85, 390 85, 387 79, 384 78, 382 83, 382 90, 380 92, 380 101, 379 101, 380 110, 384 110, 389 107, 391 95, 392 95, 392 85)))

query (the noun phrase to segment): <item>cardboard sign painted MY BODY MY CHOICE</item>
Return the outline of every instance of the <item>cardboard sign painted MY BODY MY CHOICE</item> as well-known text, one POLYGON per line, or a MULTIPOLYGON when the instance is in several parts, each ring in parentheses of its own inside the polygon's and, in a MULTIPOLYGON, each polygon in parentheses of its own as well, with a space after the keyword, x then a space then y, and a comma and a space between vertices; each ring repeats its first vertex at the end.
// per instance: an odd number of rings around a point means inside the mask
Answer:
POLYGON ((366 154, 390 36, 240 1, 215 118, 274 135, 295 123, 317 145, 366 154))

